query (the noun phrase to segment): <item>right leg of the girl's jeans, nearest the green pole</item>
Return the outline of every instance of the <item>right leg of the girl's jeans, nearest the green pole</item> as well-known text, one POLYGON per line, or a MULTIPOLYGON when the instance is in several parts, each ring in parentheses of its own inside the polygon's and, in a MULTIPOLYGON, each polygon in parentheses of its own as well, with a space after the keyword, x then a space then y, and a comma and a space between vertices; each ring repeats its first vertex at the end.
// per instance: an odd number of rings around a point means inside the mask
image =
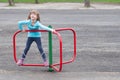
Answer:
POLYGON ((41 53, 41 56, 42 56, 43 60, 46 61, 46 55, 45 55, 45 53, 43 51, 43 48, 42 48, 41 38, 36 38, 35 42, 36 42, 37 47, 38 47, 38 49, 41 53))

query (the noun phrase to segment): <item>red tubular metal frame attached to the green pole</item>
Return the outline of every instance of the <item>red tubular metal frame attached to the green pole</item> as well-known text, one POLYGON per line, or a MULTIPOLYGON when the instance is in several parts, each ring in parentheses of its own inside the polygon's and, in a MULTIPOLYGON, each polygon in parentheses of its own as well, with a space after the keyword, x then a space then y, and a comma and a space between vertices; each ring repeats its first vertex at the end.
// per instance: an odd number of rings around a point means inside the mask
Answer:
MULTIPOLYGON (((62 70, 62 65, 63 64, 68 64, 68 63, 71 63, 75 60, 76 58, 76 32, 72 29, 72 28, 59 28, 59 29, 56 29, 57 33, 57 37, 59 39, 59 48, 60 48, 60 51, 59 51, 59 56, 60 56, 60 62, 59 63, 55 63, 55 64, 52 64, 50 65, 51 68, 53 68, 55 71, 57 72, 60 72, 62 70), (69 61, 65 61, 63 62, 63 58, 62 58, 62 37, 61 35, 58 33, 59 31, 65 31, 65 30, 69 30, 69 31, 72 31, 73 32, 73 35, 74 35, 74 54, 73 54, 73 57, 69 60, 69 61), (57 68, 56 66, 59 66, 59 68, 57 68)), ((16 56, 16 36, 17 34, 19 34, 21 31, 17 31, 14 33, 13 35, 13 56, 14 56, 14 61, 17 63, 17 56, 16 56)), ((25 32, 48 32, 46 30, 25 30, 25 32)), ((23 64, 22 66, 43 66, 44 67, 44 64, 23 64)))

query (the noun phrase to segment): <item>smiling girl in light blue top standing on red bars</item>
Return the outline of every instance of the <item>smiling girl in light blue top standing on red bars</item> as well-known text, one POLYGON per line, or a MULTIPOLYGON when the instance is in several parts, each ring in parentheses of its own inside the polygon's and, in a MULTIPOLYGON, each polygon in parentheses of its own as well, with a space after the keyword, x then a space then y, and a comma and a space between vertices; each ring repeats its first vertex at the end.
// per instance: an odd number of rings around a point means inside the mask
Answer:
MULTIPOLYGON (((23 26, 27 25, 29 30, 39 30, 39 29, 44 29, 51 31, 53 33, 56 33, 54 29, 48 28, 40 23, 40 16, 39 12, 37 10, 31 10, 29 15, 28 15, 28 20, 25 21, 19 21, 18 22, 18 27, 20 30, 24 32, 23 26)), ((27 52, 32 44, 32 42, 35 41, 37 44, 37 47, 41 53, 42 59, 44 61, 44 66, 48 66, 48 62, 46 59, 46 55, 43 51, 42 44, 41 44, 41 32, 28 32, 28 39, 26 43, 26 48, 24 49, 24 52, 22 54, 21 59, 18 60, 17 65, 22 65, 23 61, 27 55, 27 52)))

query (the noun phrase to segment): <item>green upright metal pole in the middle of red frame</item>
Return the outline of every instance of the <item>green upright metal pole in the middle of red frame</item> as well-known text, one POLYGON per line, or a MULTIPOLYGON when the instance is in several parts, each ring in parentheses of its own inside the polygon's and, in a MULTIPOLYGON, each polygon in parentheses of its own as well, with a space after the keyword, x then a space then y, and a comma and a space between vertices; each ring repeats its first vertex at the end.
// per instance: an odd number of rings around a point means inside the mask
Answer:
MULTIPOLYGON (((48 26, 49 28, 52 28, 51 25, 48 26)), ((52 60, 52 32, 48 32, 48 39, 49 39, 49 65, 52 65, 53 60, 52 60)), ((51 66, 49 66, 49 71, 52 72, 53 69, 51 66)))

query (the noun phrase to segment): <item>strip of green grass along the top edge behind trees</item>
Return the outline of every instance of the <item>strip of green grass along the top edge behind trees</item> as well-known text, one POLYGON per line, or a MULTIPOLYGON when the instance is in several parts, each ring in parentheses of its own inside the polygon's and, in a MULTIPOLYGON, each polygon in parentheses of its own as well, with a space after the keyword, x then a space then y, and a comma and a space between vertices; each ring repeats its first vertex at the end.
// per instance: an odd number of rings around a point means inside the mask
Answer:
MULTIPOLYGON (((35 0, 14 0, 15 3, 34 3, 35 0)), ((84 0, 39 0, 40 3, 46 2, 83 2, 84 0)), ((120 3, 120 0, 90 0, 99 3, 120 3)), ((8 0, 0 0, 0 2, 8 2, 8 0)))

